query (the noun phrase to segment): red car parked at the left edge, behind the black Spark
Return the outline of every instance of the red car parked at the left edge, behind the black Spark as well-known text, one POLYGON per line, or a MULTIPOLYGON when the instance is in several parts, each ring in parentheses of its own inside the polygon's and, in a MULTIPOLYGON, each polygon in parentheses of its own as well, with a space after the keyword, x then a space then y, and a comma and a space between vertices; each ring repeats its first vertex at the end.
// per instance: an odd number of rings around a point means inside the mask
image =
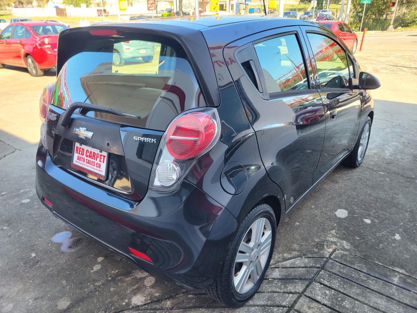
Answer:
POLYGON ((28 68, 30 75, 42 76, 56 66, 58 34, 67 26, 56 22, 12 23, 0 34, 0 68, 5 64, 28 68))

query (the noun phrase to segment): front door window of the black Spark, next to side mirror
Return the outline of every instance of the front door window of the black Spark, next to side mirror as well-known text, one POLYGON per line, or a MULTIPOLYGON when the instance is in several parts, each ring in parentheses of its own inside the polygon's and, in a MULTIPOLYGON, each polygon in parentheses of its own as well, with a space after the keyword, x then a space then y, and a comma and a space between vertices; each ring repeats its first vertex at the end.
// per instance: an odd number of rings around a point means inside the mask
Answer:
POLYGON ((331 38, 307 33, 321 88, 349 88, 349 67, 346 53, 331 38))

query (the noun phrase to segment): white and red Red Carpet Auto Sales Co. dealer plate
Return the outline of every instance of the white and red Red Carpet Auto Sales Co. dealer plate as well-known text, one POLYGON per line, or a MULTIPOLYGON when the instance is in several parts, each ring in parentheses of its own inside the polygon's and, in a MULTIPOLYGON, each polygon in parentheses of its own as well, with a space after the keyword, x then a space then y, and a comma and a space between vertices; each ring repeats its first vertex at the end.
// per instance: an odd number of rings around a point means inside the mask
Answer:
POLYGON ((95 149, 85 144, 74 143, 73 169, 106 180, 108 152, 95 149))

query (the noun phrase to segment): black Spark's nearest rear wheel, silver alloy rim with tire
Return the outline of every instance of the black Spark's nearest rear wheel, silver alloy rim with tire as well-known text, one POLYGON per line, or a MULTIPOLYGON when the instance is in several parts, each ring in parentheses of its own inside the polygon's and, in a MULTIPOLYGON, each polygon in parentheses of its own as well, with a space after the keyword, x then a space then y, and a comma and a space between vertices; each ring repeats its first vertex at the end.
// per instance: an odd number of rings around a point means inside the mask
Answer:
POLYGON ((274 211, 267 204, 259 204, 241 223, 217 280, 206 293, 228 306, 245 304, 264 279, 275 238, 274 211))

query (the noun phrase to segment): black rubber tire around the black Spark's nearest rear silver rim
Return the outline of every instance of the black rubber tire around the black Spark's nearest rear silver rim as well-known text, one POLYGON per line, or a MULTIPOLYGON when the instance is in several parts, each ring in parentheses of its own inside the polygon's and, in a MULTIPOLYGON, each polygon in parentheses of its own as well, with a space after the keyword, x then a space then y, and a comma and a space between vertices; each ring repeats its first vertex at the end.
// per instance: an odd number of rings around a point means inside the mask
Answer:
POLYGON ((236 237, 230 245, 229 252, 224 260, 224 263, 217 275, 216 282, 213 286, 206 289, 206 293, 210 295, 215 300, 224 303, 230 307, 238 307, 244 305, 259 289, 266 271, 268 270, 269 263, 271 262, 271 257, 274 252, 276 238, 276 220, 274 211, 267 204, 259 204, 254 207, 251 212, 245 217, 241 223, 236 237), (246 232, 249 230, 249 227, 259 218, 264 217, 269 220, 271 224, 271 248, 269 250, 268 259, 264 266, 262 274, 259 276, 259 279, 256 281, 254 286, 246 293, 240 294, 237 293, 233 283, 234 277, 234 268, 236 255, 239 251, 239 246, 246 235, 246 232))

